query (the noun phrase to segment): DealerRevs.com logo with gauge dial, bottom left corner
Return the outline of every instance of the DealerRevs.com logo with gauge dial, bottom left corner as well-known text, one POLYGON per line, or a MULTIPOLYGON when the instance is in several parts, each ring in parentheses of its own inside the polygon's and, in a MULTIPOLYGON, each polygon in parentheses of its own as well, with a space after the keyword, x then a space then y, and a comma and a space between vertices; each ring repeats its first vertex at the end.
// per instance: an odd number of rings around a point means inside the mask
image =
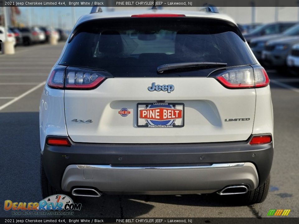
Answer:
POLYGON ((12 215, 74 215, 81 207, 81 203, 74 203, 64 194, 54 194, 40 202, 4 201, 4 210, 12 210, 12 215))

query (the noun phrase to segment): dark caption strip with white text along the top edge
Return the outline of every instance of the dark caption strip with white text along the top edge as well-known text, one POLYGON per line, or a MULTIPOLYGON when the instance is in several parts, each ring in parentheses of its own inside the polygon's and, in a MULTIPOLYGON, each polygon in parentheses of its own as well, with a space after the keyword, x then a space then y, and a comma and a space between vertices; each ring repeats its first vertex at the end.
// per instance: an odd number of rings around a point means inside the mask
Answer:
POLYGON ((0 6, 10 7, 202 7, 205 3, 216 7, 298 7, 298 0, 0 0, 0 6))

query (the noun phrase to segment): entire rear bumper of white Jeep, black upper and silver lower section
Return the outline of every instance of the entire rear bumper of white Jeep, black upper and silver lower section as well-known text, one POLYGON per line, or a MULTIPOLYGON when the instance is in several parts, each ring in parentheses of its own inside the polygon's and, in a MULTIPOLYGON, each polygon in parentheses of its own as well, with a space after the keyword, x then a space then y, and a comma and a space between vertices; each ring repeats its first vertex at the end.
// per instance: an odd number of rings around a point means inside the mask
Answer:
POLYGON ((249 141, 184 144, 69 141, 70 147, 45 144, 41 152, 47 178, 53 187, 64 191, 89 186, 104 192, 187 194, 211 193, 235 184, 255 189, 266 181, 273 160, 272 142, 253 146, 249 141), (227 167, 233 163, 243 165, 227 167))

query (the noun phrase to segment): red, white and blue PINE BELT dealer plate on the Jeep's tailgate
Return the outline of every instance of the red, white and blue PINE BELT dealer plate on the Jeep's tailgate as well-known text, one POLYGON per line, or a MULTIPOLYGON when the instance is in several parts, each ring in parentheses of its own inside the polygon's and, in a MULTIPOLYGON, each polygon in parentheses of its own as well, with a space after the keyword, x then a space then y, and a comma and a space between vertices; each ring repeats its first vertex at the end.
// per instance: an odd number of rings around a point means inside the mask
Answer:
POLYGON ((185 105, 183 103, 138 103, 137 111, 137 127, 184 127, 185 105))

